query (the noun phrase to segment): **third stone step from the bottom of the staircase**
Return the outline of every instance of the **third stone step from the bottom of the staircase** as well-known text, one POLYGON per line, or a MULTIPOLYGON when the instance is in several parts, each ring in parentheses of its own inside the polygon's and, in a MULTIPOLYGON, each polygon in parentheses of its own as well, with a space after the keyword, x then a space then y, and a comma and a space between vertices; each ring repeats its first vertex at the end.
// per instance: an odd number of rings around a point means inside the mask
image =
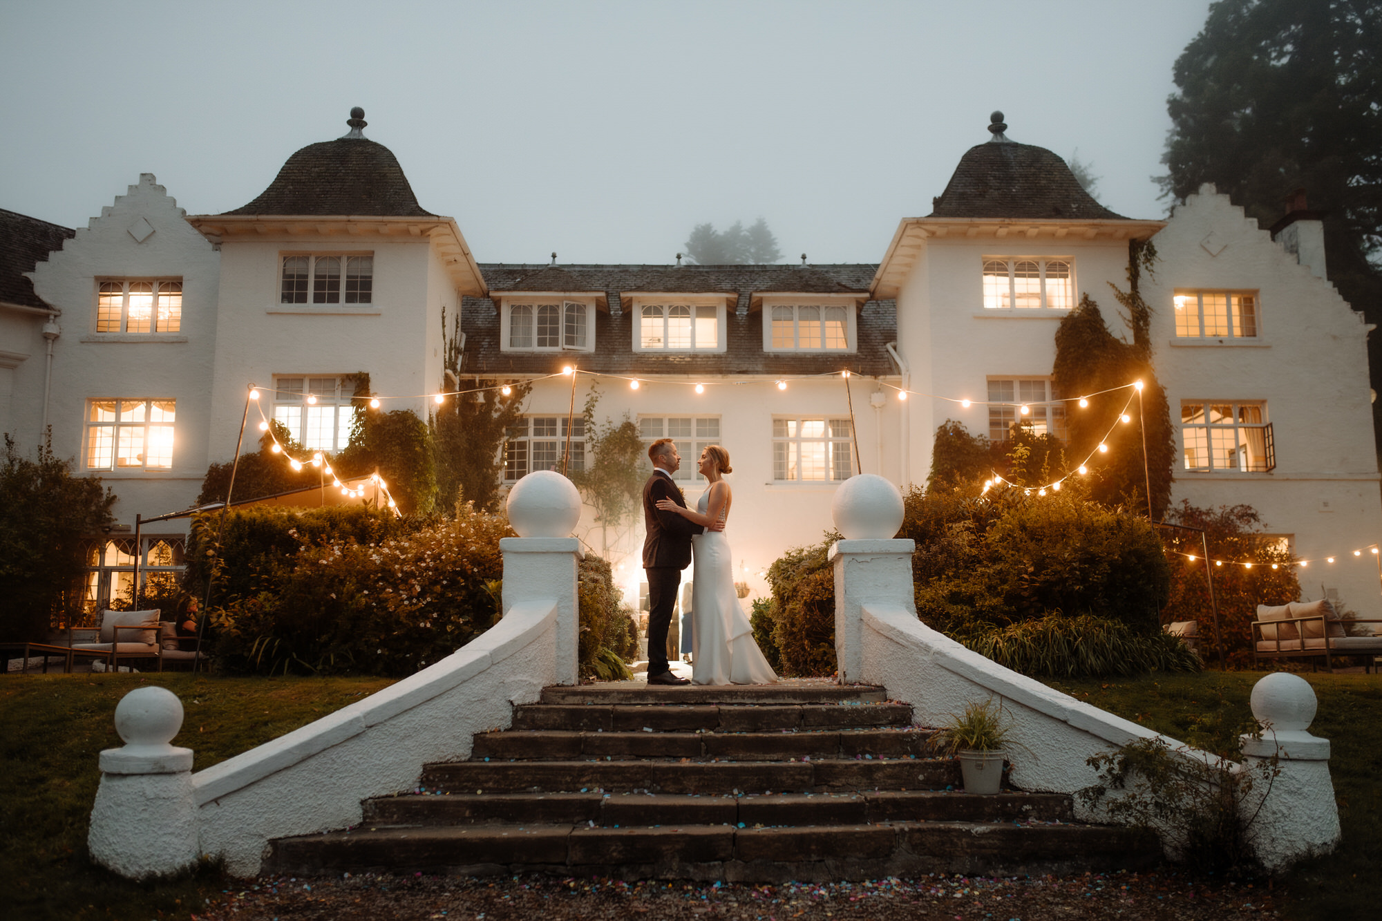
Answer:
POLYGON ((464 761, 426 765, 422 785, 438 792, 670 794, 944 790, 959 785, 949 759, 822 758, 820 761, 464 761))

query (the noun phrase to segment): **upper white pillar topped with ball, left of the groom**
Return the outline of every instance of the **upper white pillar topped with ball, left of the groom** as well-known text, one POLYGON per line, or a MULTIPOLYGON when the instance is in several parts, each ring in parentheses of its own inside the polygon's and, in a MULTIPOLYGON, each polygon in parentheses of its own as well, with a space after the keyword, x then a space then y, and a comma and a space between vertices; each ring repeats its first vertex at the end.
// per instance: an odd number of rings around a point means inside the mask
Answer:
POLYGON ((557 683, 576 685, 580 638, 578 566, 580 492, 553 470, 529 473, 509 491, 509 524, 520 537, 499 541, 504 557, 503 608, 520 602, 557 604, 557 683))

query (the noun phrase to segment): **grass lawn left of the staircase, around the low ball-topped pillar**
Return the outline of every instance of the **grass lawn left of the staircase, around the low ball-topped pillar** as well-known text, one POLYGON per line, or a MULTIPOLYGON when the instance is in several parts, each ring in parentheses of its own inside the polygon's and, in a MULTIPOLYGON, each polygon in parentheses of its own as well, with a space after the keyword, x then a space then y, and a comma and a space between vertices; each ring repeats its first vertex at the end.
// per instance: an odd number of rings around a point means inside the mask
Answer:
POLYGON ((156 882, 130 882, 87 855, 98 755, 123 743, 115 705, 162 685, 182 700, 174 745, 193 770, 276 738, 392 683, 380 678, 217 678, 171 673, 0 678, 0 878, 8 918, 185 918, 220 895, 216 864, 156 882))

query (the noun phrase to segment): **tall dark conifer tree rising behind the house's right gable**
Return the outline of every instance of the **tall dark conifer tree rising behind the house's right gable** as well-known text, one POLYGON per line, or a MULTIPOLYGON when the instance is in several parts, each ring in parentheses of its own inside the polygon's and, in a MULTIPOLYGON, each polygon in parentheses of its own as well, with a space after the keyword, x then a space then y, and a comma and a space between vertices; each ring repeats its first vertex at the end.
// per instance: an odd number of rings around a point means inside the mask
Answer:
MULTIPOLYGON (((1164 192, 1213 183, 1269 227, 1305 188, 1325 212, 1329 281, 1382 322, 1382 1, 1222 0, 1173 76, 1164 192)), ((1382 337, 1368 360, 1382 390, 1382 337)), ((1374 423, 1382 438, 1382 404, 1374 423)))

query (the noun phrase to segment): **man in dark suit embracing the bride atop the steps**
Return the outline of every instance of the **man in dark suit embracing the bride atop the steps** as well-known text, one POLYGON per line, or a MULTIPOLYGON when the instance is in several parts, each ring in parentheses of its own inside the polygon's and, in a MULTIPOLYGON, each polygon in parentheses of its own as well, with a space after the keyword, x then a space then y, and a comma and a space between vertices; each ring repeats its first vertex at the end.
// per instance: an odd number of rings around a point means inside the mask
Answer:
POLYGON ((654 441, 648 459, 652 461, 652 476, 643 484, 643 521, 648 532, 643 541, 643 568, 648 574, 648 683, 688 685, 668 665, 668 626, 681 585, 681 570, 691 563, 691 535, 705 528, 676 512, 658 510, 658 499, 672 499, 685 508, 681 490, 672 481, 672 474, 681 466, 681 455, 672 438, 654 441))

